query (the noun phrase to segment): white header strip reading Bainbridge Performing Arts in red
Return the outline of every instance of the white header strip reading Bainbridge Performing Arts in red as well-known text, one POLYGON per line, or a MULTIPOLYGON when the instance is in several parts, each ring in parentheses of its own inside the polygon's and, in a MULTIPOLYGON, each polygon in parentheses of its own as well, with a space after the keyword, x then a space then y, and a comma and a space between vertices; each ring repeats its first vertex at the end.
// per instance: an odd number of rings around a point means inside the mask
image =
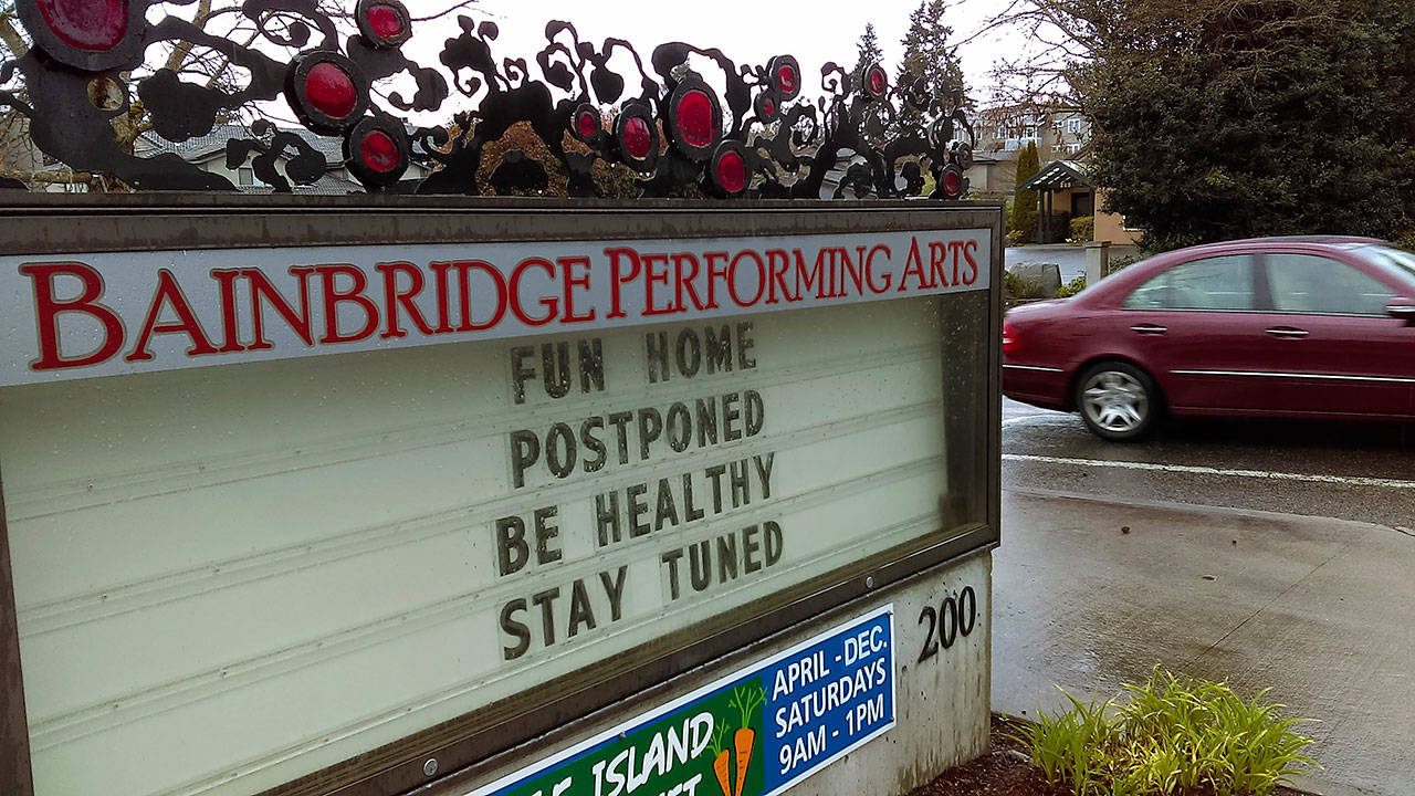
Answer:
POLYGON ((981 290, 990 245, 982 229, 4 258, 0 385, 981 290))

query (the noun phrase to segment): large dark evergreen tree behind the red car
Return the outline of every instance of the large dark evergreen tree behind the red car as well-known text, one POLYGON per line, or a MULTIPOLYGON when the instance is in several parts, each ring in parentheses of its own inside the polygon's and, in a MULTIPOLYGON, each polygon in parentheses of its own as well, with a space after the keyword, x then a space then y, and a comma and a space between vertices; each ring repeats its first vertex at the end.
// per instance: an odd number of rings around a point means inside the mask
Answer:
POLYGON ((1415 224, 1415 4, 1088 13, 1094 50, 1070 74, 1092 119, 1088 166, 1148 248, 1415 224))

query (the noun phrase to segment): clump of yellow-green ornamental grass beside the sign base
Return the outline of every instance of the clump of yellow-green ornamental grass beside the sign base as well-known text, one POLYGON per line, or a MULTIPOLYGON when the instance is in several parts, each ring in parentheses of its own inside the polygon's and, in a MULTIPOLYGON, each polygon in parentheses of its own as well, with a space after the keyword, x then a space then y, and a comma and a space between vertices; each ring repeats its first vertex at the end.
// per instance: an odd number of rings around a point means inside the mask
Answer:
POLYGON ((1040 714, 1019 734, 1047 782, 1075 796, 1266 796, 1316 761, 1312 744, 1265 701, 1244 701, 1227 683, 1159 667, 1126 701, 1081 703, 1040 714))

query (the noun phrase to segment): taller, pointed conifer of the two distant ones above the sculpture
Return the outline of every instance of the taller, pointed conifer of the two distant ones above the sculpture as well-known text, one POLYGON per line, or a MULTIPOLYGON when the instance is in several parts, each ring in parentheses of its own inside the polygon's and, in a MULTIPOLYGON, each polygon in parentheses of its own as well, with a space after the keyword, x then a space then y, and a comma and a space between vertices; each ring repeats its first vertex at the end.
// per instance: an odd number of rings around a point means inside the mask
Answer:
POLYGON ((904 103, 899 113, 897 132, 918 130, 928 119, 944 108, 954 108, 964 101, 964 69, 958 54, 948 45, 954 28, 944 24, 947 0, 923 0, 908 16, 908 33, 900 41, 904 45, 904 59, 899 65, 894 82, 904 89, 916 89, 920 98, 928 101, 928 112, 920 112, 904 103))

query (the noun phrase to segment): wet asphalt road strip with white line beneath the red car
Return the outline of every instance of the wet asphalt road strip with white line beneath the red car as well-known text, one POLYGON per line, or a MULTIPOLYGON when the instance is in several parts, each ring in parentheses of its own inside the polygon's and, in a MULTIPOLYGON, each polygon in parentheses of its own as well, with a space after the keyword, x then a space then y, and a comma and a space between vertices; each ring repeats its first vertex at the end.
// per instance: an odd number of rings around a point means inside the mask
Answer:
POLYGON ((1005 489, 1377 523, 1415 534, 1415 425, 1169 422, 1116 445, 1077 415, 1003 401, 1005 489))

